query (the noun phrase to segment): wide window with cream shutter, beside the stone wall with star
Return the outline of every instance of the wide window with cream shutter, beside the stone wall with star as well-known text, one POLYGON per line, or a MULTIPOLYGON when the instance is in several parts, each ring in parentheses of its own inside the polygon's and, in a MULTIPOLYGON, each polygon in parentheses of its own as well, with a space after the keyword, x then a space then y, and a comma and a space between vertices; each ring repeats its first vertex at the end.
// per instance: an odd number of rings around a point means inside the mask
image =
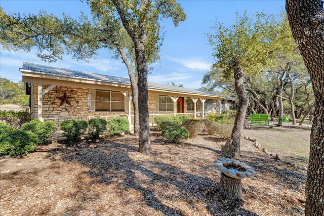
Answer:
POLYGON ((124 95, 120 92, 103 90, 89 91, 89 110, 95 111, 124 111, 124 95))

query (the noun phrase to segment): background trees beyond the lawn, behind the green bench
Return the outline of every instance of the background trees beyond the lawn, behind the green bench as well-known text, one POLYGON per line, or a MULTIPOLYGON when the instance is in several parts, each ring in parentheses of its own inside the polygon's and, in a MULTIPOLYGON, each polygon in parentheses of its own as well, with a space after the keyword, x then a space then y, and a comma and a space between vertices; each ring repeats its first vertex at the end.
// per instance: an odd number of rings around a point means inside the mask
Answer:
MULTIPOLYGON (((250 100, 248 112, 265 113, 274 117, 291 115, 293 124, 296 118, 306 118, 311 115, 311 105, 314 101, 310 76, 306 70, 300 52, 292 36, 288 19, 282 14, 281 20, 276 21, 278 36, 272 41, 273 47, 269 52, 271 61, 263 64, 263 71, 249 73, 244 76, 245 89, 250 100), (308 96, 308 97, 307 97, 308 96), (281 106, 282 104, 282 106, 281 106)), ((204 75, 204 89, 222 89, 225 92, 234 93, 234 77, 224 76, 223 69, 215 64, 204 75)), ((301 124, 304 120, 301 122, 301 124)))

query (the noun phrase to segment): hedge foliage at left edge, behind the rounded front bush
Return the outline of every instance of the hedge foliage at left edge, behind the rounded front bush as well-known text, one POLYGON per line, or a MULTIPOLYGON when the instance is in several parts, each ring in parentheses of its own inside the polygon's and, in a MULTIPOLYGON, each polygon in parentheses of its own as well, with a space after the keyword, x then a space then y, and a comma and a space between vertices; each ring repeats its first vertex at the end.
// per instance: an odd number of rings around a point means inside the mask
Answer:
POLYGON ((0 121, 20 129, 21 125, 31 120, 28 111, 0 111, 0 121))

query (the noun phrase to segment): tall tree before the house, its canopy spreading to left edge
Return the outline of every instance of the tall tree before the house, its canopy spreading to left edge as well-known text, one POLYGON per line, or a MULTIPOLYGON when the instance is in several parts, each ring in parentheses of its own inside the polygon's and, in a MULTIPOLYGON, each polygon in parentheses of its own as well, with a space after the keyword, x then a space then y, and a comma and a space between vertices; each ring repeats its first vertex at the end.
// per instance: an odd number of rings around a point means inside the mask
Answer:
MULTIPOLYGON (((140 148, 149 152, 150 136, 148 121, 147 64, 158 58, 161 45, 160 18, 172 18, 175 26, 186 15, 173 0, 165 1, 87 1, 91 7, 94 23, 80 15, 73 20, 67 15, 59 19, 41 12, 21 17, 6 15, 0 10, 0 29, 3 48, 8 50, 32 47, 39 50, 38 57, 49 62, 62 59, 64 52, 73 58, 87 60, 100 48, 115 50, 128 68, 133 93, 135 118, 136 105, 141 104, 139 117, 140 148), (133 69, 135 68, 135 69, 133 69), (136 101, 138 92, 141 92, 136 101), (142 114, 141 114, 142 113, 142 114)), ((138 128, 134 123, 134 129, 138 128)))

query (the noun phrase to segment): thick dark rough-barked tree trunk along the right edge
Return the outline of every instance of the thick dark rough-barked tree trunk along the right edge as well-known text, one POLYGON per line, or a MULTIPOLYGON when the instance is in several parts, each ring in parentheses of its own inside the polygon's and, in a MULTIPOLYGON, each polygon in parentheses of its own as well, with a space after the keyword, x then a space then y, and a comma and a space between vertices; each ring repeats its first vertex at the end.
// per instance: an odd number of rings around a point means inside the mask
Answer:
POLYGON ((312 80, 315 96, 306 181, 308 215, 324 215, 324 10, 321 0, 287 0, 295 41, 312 80))

